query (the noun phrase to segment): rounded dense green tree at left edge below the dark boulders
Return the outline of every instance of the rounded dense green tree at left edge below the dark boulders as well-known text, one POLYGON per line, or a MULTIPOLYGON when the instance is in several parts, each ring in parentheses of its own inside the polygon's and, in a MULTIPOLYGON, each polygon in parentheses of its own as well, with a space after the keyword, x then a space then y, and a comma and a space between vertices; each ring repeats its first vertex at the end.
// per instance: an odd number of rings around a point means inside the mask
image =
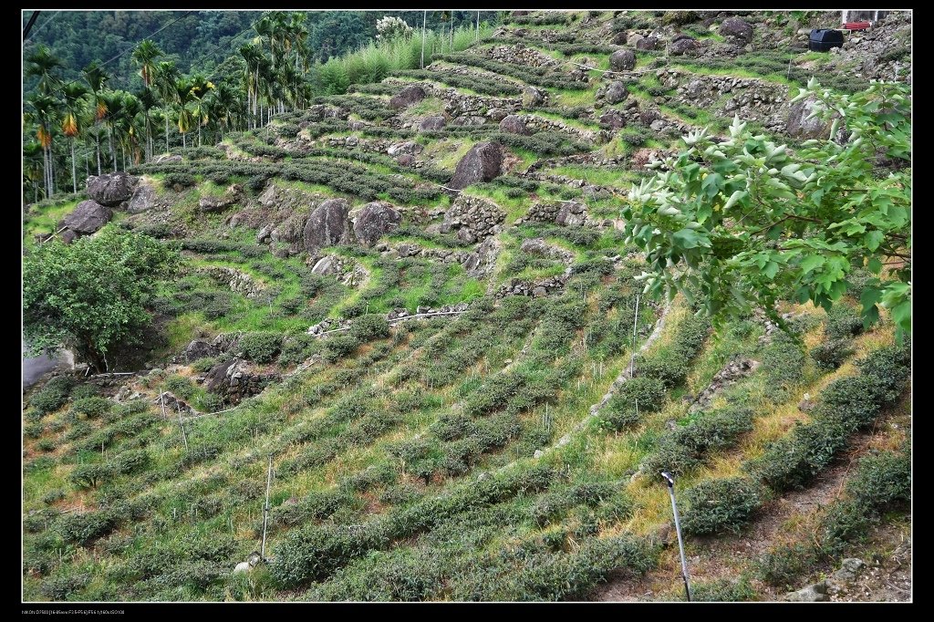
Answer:
POLYGON ((158 240, 108 225, 71 245, 52 240, 23 258, 23 332, 34 352, 68 347, 96 371, 106 354, 138 340, 156 282, 179 254, 158 240))

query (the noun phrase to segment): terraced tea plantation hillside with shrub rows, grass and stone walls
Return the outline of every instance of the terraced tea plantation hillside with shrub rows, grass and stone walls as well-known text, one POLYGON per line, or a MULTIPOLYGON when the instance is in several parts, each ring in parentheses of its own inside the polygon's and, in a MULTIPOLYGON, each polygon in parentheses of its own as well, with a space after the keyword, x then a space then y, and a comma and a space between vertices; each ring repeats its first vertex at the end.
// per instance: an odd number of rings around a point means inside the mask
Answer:
POLYGON ((99 219, 181 265, 111 373, 24 391, 24 600, 684 600, 662 471, 694 600, 910 543, 911 348, 860 317, 869 271, 713 326, 700 288, 644 293, 620 217, 685 134, 805 148, 799 87, 904 59, 808 52, 837 14, 516 13, 25 210, 26 252, 99 219))

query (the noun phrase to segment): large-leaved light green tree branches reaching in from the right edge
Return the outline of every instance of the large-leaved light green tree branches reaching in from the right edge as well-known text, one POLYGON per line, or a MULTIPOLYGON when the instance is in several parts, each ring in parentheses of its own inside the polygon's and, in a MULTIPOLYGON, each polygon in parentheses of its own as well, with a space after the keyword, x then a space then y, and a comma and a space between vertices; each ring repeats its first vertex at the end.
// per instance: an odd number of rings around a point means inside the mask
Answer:
POLYGON ((900 339, 911 330, 909 88, 840 94, 812 79, 792 101, 807 97, 812 116, 833 119, 828 140, 793 152, 737 118, 726 140, 688 134, 686 151, 632 188, 622 216, 628 242, 646 251, 645 291, 700 292, 715 322, 757 305, 784 324, 779 300, 829 309, 863 267, 873 275, 860 296, 864 322, 882 304, 900 339))

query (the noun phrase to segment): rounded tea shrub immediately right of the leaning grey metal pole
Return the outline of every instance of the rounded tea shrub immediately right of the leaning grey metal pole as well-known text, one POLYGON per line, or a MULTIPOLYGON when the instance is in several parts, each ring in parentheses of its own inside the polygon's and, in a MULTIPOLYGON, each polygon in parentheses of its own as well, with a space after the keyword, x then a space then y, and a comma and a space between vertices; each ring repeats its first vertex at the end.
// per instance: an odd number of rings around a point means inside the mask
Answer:
POLYGON ((748 477, 702 482, 685 493, 685 533, 738 532, 765 500, 765 489, 748 477))

